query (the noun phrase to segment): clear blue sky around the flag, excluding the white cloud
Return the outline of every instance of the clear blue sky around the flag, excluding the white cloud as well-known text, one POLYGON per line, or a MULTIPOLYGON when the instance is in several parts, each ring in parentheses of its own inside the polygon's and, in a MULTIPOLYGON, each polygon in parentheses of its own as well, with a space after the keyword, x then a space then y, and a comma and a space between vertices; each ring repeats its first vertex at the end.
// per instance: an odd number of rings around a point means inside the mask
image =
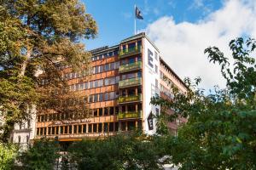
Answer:
POLYGON ((144 20, 137 20, 137 30, 162 16, 173 16, 177 22, 197 22, 221 7, 219 0, 83 0, 87 12, 99 27, 96 39, 84 41, 87 49, 118 43, 134 32, 134 5, 141 9, 144 20))

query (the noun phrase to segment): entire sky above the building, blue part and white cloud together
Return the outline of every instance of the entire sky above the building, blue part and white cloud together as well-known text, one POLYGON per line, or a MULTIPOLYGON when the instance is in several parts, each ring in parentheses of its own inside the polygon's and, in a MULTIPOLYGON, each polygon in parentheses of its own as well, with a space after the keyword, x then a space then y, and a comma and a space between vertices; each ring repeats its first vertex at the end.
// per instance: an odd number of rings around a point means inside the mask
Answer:
POLYGON ((181 78, 201 77, 201 88, 225 87, 218 65, 210 64, 204 49, 218 46, 226 57, 236 37, 256 38, 256 0, 83 0, 99 27, 86 49, 111 46, 134 32, 134 4, 145 31, 160 56, 181 78))

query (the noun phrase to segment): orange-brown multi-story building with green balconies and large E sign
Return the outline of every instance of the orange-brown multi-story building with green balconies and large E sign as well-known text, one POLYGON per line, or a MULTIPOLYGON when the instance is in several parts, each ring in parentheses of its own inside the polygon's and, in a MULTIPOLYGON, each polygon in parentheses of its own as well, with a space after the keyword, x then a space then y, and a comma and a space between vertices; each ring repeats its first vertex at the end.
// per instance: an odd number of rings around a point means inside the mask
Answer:
MULTIPOLYGON (((91 53, 90 78, 74 72, 63 75, 72 91, 88 96, 91 116, 66 121, 65 115, 38 113, 36 138, 73 141, 135 128, 154 134, 153 115, 160 114, 160 106, 151 105, 150 99, 154 95, 172 98, 160 75, 165 74, 182 92, 186 91, 183 81, 160 58, 159 49, 145 33, 140 33, 118 45, 97 48, 91 53)), ((172 130, 177 129, 174 124, 169 126, 172 130)))

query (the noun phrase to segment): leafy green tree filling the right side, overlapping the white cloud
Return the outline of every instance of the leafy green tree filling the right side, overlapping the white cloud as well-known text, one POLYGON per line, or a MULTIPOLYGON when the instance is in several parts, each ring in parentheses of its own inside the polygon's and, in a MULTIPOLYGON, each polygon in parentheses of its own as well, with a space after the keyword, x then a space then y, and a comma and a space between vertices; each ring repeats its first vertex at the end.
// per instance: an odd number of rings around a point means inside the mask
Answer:
MULTIPOLYGON (((221 66, 227 88, 214 88, 205 95, 196 88, 200 79, 189 86, 187 94, 174 88, 174 99, 153 99, 154 104, 175 111, 175 116, 188 117, 177 137, 167 137, 166 154, 180 169, 255 169, 256 111, 253 55, 256 42, 237 38, 230 42, 234 65, 218 48, 207 48, 210 62, 221 66)), ((172 117, 173 117, 172 116, 172 117)))

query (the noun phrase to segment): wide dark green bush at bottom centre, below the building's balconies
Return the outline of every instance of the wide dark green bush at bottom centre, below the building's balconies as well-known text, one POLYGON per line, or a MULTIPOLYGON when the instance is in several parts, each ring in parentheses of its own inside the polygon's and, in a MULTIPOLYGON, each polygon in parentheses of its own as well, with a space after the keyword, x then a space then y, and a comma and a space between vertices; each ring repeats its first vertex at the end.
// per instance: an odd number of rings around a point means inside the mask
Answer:
POLYGON ((78 169, 160 169, 159 144, 158 140, 134 133, 118 134, 107 139, 85 139, 73 144, 69 153, 78 169))

